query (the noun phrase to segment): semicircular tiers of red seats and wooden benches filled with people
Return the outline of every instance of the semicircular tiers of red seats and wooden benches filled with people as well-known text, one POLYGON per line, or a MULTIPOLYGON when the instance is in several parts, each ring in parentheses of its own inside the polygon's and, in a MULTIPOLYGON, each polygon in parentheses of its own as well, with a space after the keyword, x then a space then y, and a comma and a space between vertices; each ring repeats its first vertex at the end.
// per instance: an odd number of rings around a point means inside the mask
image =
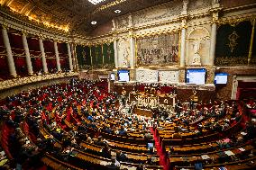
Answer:
POLYGON ((106 82, 76 80, 3 103, 1 144, 23 169, 107 169, 113 157, 121 169, 255 166, 255 128, 245 124, 249 117, 236 101, 198 104, 193 111, 181 104, 179 113, 149 118, 120 108, 106 82))

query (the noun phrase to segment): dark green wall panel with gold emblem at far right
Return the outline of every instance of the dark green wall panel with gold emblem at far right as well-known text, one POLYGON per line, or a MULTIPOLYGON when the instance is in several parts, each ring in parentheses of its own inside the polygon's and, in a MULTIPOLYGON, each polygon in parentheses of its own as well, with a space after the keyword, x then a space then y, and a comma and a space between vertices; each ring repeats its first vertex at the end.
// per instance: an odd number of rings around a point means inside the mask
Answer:
MULTIPOLYGON (((218 28, 216 38, 215 65, 241 66, 248 65, 251 42, 251 22, 240 22, 236 25, 224 24, 218 28)), ((255 44, 255 39, 253 43, 255 44)), ((252 51, 255 49, 253 47, 252 51)), ((256 64, 255 52, 252 52, 251 65, 256 64)))

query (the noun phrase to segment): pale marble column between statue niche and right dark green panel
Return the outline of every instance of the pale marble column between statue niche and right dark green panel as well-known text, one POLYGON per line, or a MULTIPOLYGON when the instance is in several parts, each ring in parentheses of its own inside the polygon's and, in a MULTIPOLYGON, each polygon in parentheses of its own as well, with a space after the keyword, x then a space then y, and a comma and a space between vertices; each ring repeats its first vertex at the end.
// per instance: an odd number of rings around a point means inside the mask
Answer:
POLYGON ((211 46, 210 46, 209 66, 215 66, 216 34, 217 34, 217 24, 214 22, 212 24, 212 31, 211 31, 211 46))

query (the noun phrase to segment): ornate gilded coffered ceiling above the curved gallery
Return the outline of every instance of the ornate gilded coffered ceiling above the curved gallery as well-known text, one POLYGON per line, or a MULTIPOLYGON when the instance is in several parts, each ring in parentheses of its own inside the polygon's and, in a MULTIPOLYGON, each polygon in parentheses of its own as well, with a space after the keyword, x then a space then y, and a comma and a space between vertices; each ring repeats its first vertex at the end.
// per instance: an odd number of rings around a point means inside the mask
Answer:
POLYGON ((87 0, 0 0, 0 4, 32 21, 86 35, 114 17, 169 1, 105 0, 100 4, 91 4, 87 0), (121 13, 114 13, 116 9, 121 13), (97 22, 96 25, 91 24, 93 21, 97 22))

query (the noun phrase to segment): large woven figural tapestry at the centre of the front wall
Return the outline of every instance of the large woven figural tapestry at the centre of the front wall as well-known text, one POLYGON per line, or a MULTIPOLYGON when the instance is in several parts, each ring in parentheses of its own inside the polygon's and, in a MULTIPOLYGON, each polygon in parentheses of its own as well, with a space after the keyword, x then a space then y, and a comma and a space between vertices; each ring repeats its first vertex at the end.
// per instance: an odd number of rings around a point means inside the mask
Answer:
POLYGON ((178 65, 178 33, 137 40, 137 65, 178 65))

